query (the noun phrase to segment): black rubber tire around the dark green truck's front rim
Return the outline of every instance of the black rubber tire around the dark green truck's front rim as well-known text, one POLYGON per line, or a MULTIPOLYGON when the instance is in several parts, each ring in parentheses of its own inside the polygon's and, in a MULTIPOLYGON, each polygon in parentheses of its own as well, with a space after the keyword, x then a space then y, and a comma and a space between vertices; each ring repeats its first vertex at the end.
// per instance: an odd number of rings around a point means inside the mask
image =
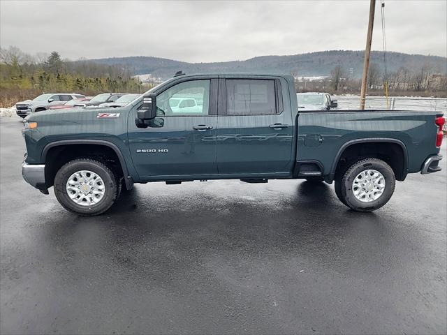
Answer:
POLYGON ((94 216, 107 211, 117 199, 118 191, 119 186, 117 183, 117 177, 115 177, 112 170, 110 170, 110 168, 103 163, 89 158, 78 158, 74 161, 66 163, 59 169, 59 171, 57 171, 56 177, 54 177, 54 194, 56 195, 59 203, 68 211, 73 211, 74 213, 82 216, 94 216), (80 204, 76 204, 68 196, 66 191, 66 183, 68 178, 73 173, 80 170, 89 170, 98 174, 98 176, 103 179, 105 193, 103 198, 99 200, 97 204, 82 206, 80 204))

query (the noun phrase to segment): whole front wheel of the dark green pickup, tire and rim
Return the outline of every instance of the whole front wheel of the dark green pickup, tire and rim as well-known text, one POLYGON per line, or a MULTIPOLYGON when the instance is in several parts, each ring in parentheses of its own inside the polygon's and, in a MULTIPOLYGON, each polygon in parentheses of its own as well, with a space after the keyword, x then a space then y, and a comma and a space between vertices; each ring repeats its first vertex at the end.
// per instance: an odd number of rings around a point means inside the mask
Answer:
POLYGON ((57 172, 54 194, 69 211, 83 216, 98 215, 107 211, 117 199, 117 178, 99 161, 75 159, 57 172))

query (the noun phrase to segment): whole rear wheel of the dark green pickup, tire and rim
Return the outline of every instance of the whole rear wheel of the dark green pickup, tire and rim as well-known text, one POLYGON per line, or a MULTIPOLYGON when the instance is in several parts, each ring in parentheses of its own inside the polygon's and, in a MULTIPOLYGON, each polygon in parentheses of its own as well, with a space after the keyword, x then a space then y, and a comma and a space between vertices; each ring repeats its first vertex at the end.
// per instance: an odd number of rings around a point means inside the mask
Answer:
POLYGON ((335 181, 337 197, 354 211, 374 211, 390 200, 396 184, 393 169, 377 158, 353 163, 335 181))

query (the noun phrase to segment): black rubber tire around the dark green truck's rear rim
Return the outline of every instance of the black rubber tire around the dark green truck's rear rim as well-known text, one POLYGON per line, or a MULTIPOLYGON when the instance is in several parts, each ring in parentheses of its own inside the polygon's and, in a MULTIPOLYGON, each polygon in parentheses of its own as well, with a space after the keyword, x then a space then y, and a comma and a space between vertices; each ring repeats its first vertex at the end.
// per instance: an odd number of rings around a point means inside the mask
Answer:
POLYGON ((375 211, 390 200, 394 193, 395 184, 395 174, 390 165, 378 158, 366 158, 353 163, 343 174, 343 177, 339 176, 337 178, 335 181, 335 193, 340 201, 354 211, 375 211), (362 202, 358 200, 352 190, 354 179, 356 179, 360 172, 365 170, 376 170, 380 172, 385 179, 385 188, 382 195, 370 202, 362 202))

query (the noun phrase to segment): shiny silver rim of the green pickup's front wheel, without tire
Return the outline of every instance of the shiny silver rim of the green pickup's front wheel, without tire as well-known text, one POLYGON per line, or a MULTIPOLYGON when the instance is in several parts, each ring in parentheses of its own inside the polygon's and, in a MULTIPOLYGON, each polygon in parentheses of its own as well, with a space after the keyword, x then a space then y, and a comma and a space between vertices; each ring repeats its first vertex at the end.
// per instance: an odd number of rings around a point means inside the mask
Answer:
POLYGON ((105 194, 104 181, 98 174, 82 170, 73 173, 66 184, 68 196, 76 204, 91 206, 101 201, 105 194))

